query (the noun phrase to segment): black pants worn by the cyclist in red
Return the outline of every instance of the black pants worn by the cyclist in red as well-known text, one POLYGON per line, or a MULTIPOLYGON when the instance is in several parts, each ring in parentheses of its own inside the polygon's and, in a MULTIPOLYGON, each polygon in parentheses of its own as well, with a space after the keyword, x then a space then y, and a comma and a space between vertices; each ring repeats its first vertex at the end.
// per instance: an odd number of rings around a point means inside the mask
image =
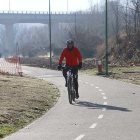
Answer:
MULTIPOLYGON (((63 69, 63 76, 65 77, 66 82, 67 82, 67 72, 68 69, 63 69)), ((78 68, 72 69, 72 73, 74 76, 73 78, 74 78, 76 94, 78 94, 78 68)))

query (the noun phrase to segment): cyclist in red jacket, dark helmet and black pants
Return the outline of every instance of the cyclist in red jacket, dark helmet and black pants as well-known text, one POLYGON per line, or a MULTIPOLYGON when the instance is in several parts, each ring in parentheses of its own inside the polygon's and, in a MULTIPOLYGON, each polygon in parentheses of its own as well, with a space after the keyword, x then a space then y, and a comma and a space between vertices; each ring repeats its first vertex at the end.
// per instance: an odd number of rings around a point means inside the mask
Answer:
MULTIPOLYGON (((66 66, 78 66, 79 69, 82 68, 82 56, 80 51, 77 47, 74 46, 74 42, 72 40, 67 40, 67 47, 64 48, 64 50, 61 53, 60 59, 59 59, 59 65, 58 70, 61 70, 62 68, 62 61, 65 58, 66 66), (78 63, 79 61, 79 63, 78 63)), ((79 98, 78 93, 78 68, 75 68, 72 70, 74 74, 74 84, 75 84, 75 90, 76 90, 76 99, 79 98)), ((65 86, 67 87, 67 71, 68 69, 63 70, 63 76, 66 80, 65 86)))

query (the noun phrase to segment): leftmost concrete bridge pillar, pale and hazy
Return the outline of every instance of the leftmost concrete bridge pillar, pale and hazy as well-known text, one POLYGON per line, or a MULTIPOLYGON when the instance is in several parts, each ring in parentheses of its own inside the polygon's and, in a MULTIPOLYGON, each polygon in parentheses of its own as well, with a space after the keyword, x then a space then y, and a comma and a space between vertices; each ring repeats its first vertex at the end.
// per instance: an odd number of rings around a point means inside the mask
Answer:
POLYGON ((14 51, 13 24, 5 24, 5 49, 9 52, 9 54, 14 51))

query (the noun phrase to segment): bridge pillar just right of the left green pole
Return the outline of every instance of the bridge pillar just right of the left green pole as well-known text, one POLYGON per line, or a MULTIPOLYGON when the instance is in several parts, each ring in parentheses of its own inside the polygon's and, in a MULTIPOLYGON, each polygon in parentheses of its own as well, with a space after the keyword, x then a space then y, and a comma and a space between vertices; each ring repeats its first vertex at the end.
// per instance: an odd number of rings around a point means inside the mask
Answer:
POLYGON ((54 44, 54 47, 57 47, 59 40, 59 23, 52 22, 52 43, 54 44))

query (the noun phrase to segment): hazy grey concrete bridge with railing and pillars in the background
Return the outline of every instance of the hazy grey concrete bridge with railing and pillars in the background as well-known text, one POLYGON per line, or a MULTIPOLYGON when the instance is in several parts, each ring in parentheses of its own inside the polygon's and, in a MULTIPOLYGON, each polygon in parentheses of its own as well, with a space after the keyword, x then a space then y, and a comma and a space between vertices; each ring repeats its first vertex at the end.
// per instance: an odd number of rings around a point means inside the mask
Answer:
MULTIPOLYGON (((74 23, 75 15, 86 14, 89 12, 51 12, 52 38, 59 33, 59 23, 74 23)), ((49 12, 33 11, 0 11, 0 24, 5 25, 6 42, 5 48, 9 52, 15 46, 13 25, 16 23, 42 23, 49 24, 49 12)))

